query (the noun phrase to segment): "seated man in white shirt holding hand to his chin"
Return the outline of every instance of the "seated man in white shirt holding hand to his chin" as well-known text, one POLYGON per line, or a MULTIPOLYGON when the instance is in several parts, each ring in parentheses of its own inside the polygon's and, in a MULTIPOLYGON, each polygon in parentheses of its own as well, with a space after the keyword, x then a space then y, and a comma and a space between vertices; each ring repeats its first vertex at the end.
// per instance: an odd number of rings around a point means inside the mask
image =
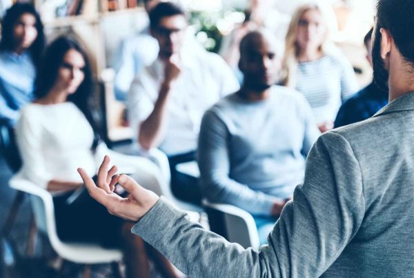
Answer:
POLYGON ((239 85, 217 54, 184 51, 188 22, 181 8, 159 3, 149 17, 159 55, 132 82, 128 96, 130 126, 141 148, 158 147, 168 155, 172 192, 199 203, 197 179, 178 173, 175 166, 195 160, 201 117, 239 85))

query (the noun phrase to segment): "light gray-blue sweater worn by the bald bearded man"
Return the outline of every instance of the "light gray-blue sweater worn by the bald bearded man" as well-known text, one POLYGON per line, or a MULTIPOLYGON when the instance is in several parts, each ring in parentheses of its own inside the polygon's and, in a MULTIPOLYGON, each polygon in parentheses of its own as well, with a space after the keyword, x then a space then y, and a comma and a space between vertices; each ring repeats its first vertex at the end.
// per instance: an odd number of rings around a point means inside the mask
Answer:
POLYGON ((274 86, 260 101, 228 95, 201 121, 197 161, 204 195, 270 215, 275 200, 291 197, 303 182, 318 136, 311 108, 295 90, 274 86))

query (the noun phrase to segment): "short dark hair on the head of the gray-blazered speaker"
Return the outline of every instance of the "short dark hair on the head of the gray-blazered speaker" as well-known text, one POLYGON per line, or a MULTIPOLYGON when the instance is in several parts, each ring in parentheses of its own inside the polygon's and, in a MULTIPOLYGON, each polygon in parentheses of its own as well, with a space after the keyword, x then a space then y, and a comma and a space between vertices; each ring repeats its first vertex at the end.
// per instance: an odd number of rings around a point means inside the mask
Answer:
POLYGON ((384 28, 391 33, 402 57, 414 65, 414 1, 378 0, 377 32, 384 28))

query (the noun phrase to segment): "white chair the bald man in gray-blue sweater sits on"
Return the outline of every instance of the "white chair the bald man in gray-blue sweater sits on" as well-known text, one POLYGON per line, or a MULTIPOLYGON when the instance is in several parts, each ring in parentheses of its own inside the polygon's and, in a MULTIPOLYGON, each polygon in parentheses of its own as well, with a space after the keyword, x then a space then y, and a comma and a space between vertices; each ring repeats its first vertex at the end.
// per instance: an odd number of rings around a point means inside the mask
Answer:
POLYGON ((203 200, 203 205, 210 220, 210 227, 213 232, 215 225, 220 226, 221 232, 228 241, 240 244, 244 248, 259 248, 259 234, 255 224, 255 219, 250 213, 242 208, 224 204, 224 203, 210 203, 206 199, 203 200), (217 212, 215 217, 212 217, 212 211, 217 212), (218 222, 218 223, 217 223, 218 222), (224 230, 222 230, 224 228, 224 230))

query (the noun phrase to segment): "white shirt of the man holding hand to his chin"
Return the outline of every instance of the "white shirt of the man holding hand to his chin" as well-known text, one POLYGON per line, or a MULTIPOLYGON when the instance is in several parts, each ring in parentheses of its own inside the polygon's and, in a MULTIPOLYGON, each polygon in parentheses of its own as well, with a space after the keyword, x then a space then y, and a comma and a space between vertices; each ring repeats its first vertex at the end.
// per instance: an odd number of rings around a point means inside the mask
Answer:
MULTIPOLYGON (((164 63, 157 59, 132 81, 128 113, 134 138, 157 101, 164 63)), ((159 148, 167 155, 195 150, 204 112, 222 97, 239 90, 235 75, 219 55, 199 51, 181 54, 181 73, 172 83, 167 104, 166 134, 159 148)))

